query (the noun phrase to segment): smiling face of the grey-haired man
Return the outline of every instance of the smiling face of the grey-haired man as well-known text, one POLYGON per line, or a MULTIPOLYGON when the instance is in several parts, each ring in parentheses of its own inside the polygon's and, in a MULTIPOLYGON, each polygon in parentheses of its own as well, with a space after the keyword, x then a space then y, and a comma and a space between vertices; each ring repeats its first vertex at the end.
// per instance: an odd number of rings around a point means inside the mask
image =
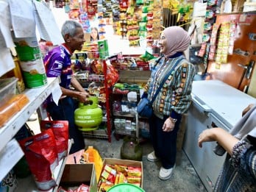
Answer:
POLYGON ((84 31, 82 28, 77 28, 77 32, 75 33, 74 37, 71 37, 69 46, 71 47, 72 51, 82 50, 82 45, 85 43, 85 36, 84 31))

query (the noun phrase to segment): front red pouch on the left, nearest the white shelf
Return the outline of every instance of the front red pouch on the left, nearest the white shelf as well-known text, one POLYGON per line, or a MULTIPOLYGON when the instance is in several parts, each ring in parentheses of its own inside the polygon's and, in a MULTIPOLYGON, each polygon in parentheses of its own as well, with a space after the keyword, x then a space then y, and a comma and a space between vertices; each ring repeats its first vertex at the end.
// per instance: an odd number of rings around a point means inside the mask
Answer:
POLYGON ((55 187, 54 168, 58 165, 57 147, 51 129, 19 141, 39 190, 55 187))

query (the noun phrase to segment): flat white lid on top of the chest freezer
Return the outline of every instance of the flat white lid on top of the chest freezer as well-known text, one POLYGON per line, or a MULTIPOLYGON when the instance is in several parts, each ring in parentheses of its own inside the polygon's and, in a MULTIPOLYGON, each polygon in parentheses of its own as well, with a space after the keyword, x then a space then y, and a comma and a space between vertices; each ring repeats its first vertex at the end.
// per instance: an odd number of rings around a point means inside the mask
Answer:
POLYGON ((254 97, 220 80, 193 81, 192 98, 230 129, 241 118, 243 109, 256 103, 254 97))

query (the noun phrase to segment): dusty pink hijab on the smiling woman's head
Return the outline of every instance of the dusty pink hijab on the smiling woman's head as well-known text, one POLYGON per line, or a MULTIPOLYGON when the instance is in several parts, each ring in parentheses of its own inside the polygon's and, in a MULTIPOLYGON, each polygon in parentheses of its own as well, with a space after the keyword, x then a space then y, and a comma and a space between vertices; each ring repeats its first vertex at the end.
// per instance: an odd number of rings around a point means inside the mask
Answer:
POLYGON ((169 26, 163 30, 163 34, 166 36, 167 49, 163 53, 165 57, 170 57, 177 52, 182 52, 188 49, 190 43, 190 37, 180 26, 169 26))

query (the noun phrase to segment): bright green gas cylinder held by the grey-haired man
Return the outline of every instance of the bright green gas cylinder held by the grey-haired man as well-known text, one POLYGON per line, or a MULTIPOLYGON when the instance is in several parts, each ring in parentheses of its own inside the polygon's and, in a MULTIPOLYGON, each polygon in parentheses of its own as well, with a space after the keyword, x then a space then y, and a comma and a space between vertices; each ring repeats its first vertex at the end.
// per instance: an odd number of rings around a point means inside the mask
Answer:
POLYGON ((90 96, 88 103, 79 103, 74 112, 75 124, 81 131, 97 129, 102 123, 102 109, 98 107, 98 97, 90 96))

